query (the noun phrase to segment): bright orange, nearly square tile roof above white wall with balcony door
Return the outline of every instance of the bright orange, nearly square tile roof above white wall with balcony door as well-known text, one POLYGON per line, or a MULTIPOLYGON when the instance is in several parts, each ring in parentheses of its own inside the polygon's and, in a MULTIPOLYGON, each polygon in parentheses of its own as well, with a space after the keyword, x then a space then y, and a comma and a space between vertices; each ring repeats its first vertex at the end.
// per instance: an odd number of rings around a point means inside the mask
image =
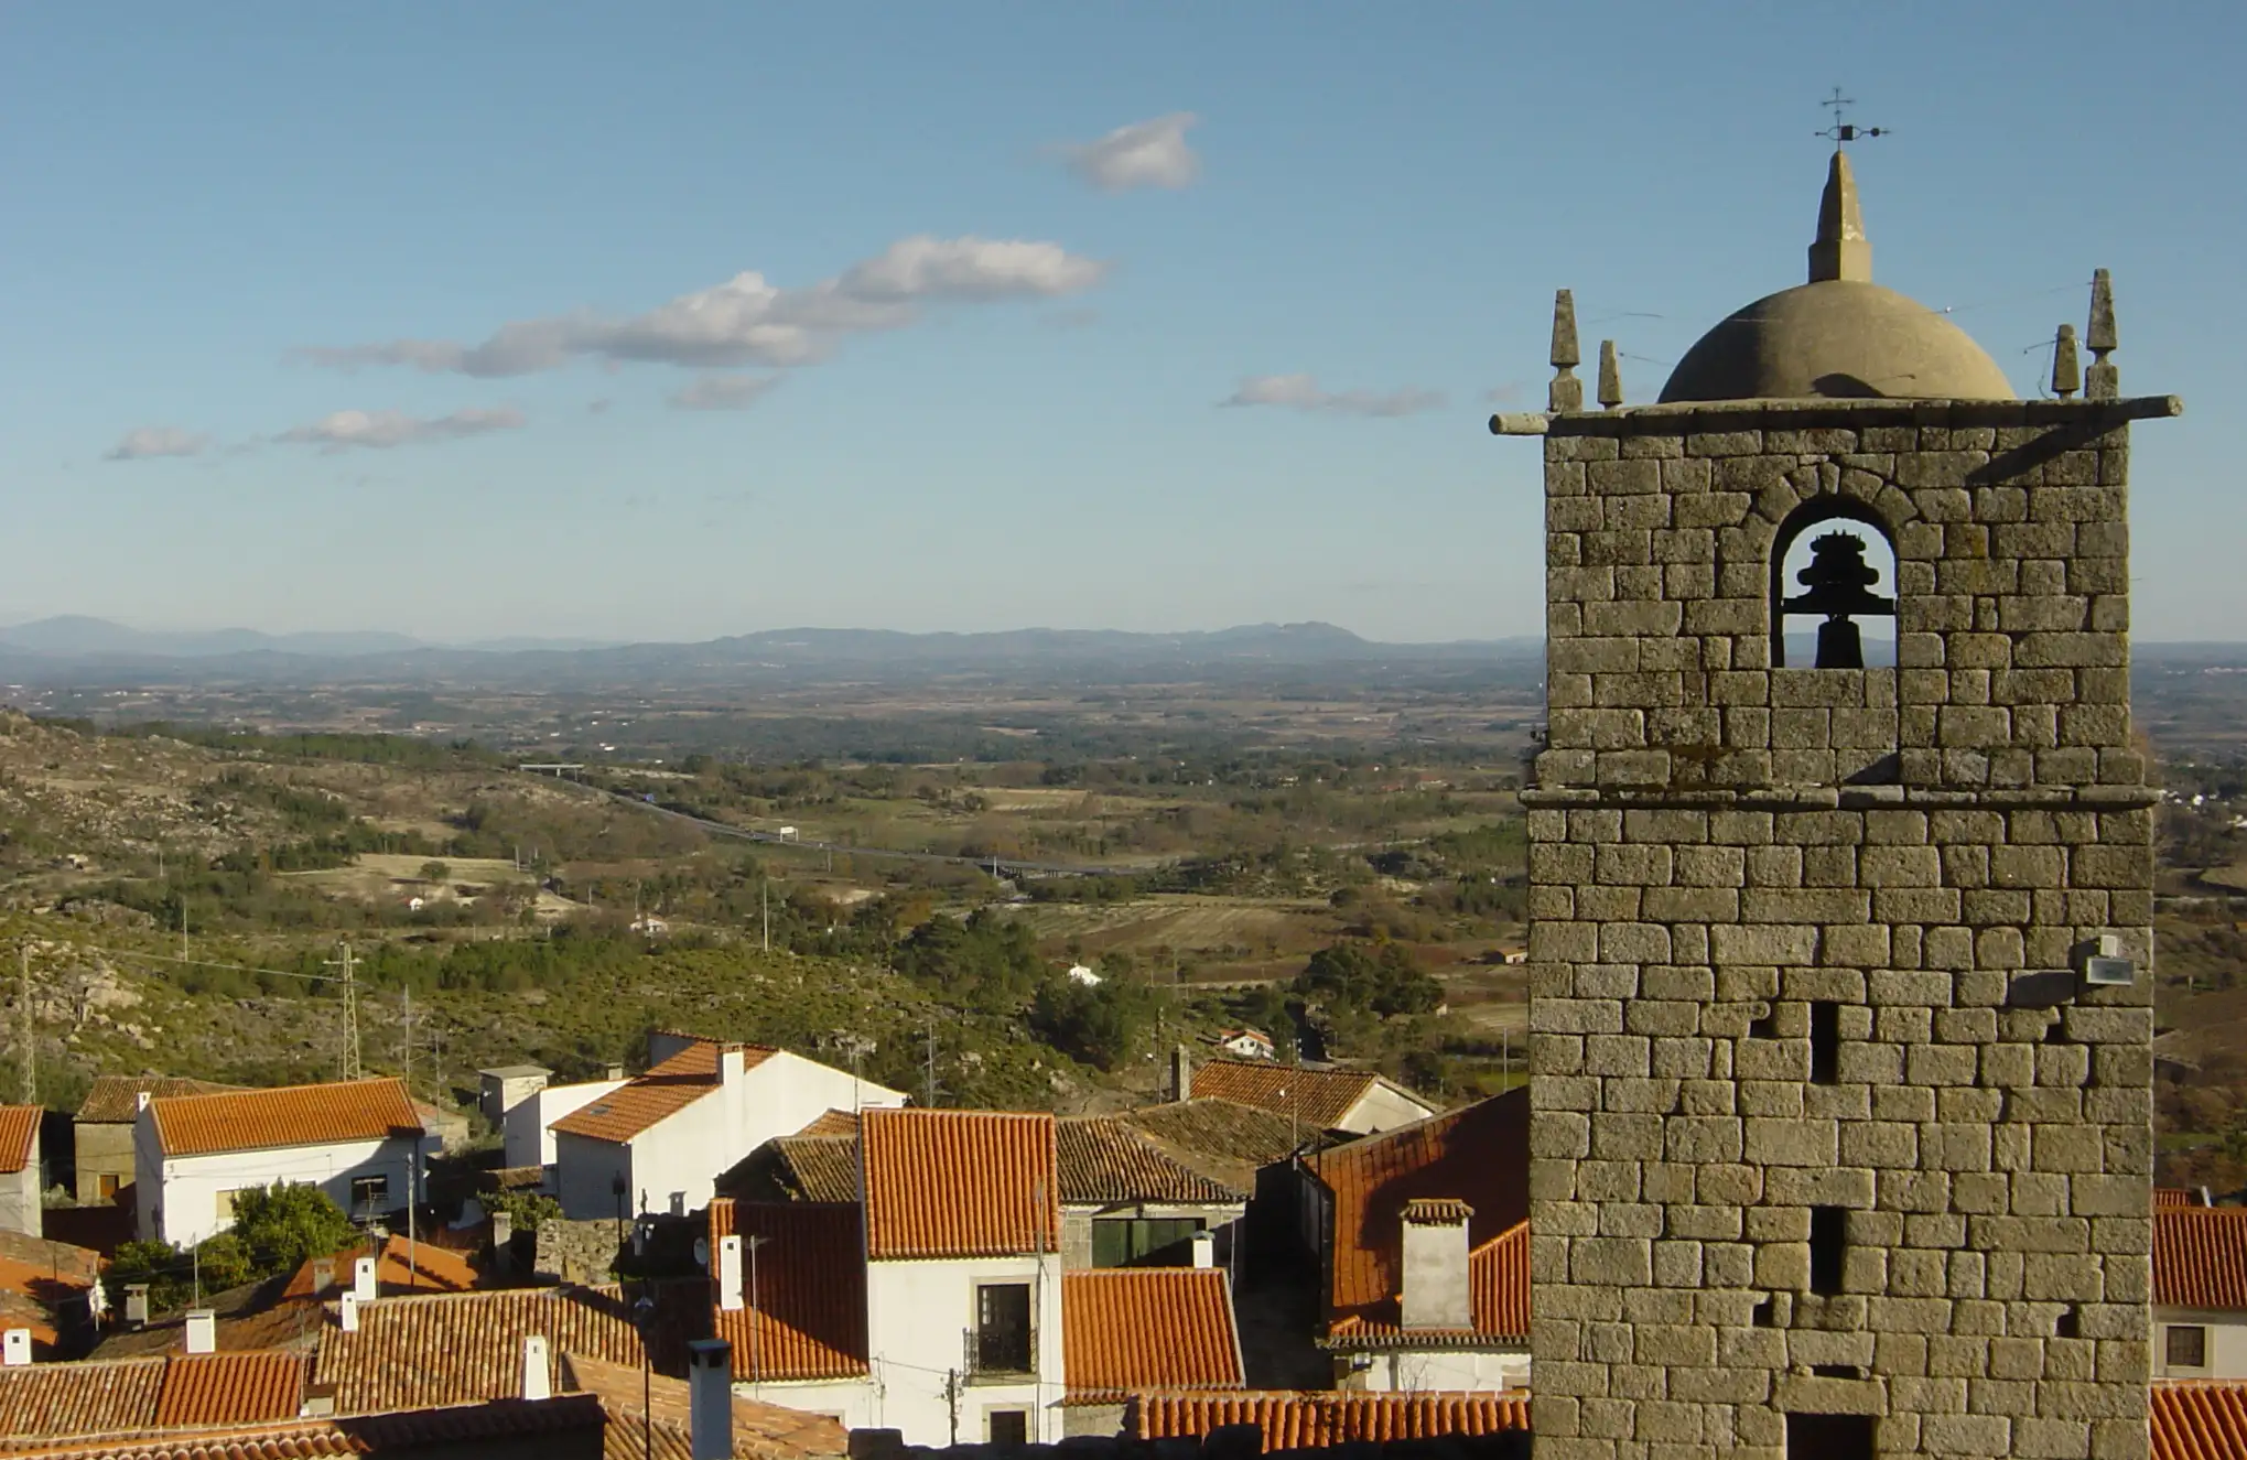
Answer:
POLYGON ((1054 1116, 867 1110, 867 1258, 1061 1251, 1054 1116))

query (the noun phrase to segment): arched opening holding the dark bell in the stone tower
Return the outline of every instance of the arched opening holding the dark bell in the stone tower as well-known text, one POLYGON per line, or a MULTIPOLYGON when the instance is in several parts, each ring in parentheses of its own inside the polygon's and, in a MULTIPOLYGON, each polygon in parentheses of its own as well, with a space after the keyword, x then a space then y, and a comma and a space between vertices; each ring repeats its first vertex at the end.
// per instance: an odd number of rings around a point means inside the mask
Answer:
POLYGON ((1771 663, 1887 669, 1896 663, 1896 541, 1881 514, 1847 496, 1795 508, 1771 544, 1771 663), (1789 629, 1816 622, 1809 651, 1789 629), (1870 631, 1867 631, 1870 629, 1870 631))

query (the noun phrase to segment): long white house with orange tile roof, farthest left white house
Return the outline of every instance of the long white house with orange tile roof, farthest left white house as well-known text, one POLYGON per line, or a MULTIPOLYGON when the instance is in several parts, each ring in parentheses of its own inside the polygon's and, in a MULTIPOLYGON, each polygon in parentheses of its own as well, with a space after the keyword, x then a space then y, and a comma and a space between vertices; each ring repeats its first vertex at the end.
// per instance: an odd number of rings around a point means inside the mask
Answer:
POLYGON ((234 1222, 234 1193, 317 1186, 353 1220, 420 1195, 436 1155, 404 1080, 142 1096, 133 1132, 144 1240, 193 1244, 234 1222))

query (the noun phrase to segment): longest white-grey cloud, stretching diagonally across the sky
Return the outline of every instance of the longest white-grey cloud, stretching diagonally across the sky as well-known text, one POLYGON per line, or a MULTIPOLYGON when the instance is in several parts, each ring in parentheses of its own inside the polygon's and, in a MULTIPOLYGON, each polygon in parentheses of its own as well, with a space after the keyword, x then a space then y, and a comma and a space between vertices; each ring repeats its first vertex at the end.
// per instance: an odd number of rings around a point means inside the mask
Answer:
POLYGON ((777 288, 748 272, 629 319, 555 314, 506 323, 476 346, 393 339, 310 346, 294 357, 344 371, 411 366, 483 377, 553 371, 577 357, 611 366, 800 366, 825 359, 847 335, 912 323, 924 303, 1061 299, 1090 290, 1106 274, 1106 263, 1070 254, 1058 243, 919 234, 804 288, 777 288))

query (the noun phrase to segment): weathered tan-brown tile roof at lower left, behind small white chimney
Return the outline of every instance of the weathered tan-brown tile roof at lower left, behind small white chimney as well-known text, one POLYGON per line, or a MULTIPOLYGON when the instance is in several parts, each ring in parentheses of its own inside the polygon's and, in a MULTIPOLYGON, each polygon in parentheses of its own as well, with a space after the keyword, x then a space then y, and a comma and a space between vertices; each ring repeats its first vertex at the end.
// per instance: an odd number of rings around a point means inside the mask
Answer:
POLYGON ((631 1298, 618 1287, 519 1287, 360 1305, 360 1332, 333 1318, 319 1334, 317 1384, 335 1384, 337 1413, 434 1408, 524 1393, 524 1339, 546 1339, 546 1368, 564 1350, 640 1363, 631 1298))

